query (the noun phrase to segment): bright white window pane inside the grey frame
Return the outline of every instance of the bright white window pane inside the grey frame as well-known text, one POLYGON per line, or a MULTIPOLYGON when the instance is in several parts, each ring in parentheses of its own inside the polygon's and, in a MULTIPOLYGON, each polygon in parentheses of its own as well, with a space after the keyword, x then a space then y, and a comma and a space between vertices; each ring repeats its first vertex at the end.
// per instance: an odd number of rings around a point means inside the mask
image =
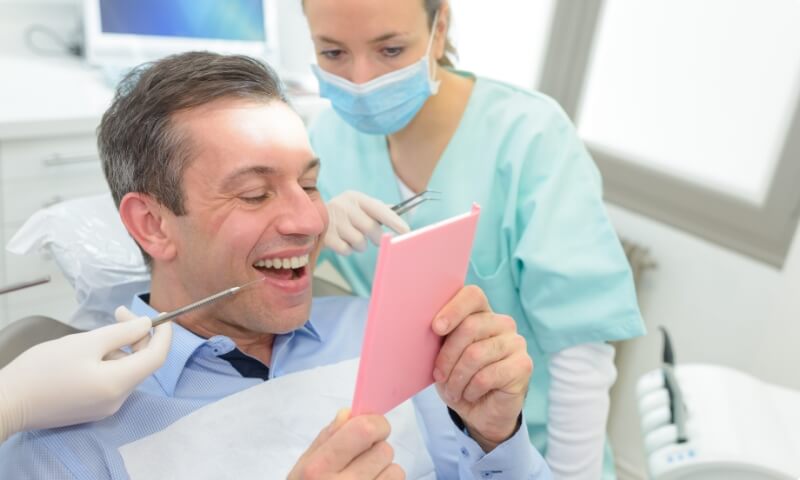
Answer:
POLYGON ((800 95, 800 1, 606 0, 578 126, 760 205, 800 95))

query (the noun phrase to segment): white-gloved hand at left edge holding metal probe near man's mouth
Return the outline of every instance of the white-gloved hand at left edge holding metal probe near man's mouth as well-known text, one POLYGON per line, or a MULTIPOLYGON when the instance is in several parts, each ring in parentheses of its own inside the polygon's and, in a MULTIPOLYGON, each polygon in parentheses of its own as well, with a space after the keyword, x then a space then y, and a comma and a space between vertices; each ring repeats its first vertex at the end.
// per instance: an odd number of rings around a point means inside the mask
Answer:
POLYGON ((151 320, 119 307, 115 325, 41 343, 0 370, 0 441, 23 430, 112 415, 167 357, 170 322, 150 338, 151 320), (133 353, 119 349, 135 344, 133 353))

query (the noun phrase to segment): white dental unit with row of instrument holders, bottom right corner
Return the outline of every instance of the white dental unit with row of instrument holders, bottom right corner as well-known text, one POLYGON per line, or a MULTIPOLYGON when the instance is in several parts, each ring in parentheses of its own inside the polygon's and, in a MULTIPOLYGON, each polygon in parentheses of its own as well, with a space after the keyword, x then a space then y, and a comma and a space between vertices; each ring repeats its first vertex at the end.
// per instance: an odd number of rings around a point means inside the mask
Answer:
POLYGON ((800 478, 800 392, 722 365, 678 365, 664 336, 664 365, 636 386, 651 478, 800 478))

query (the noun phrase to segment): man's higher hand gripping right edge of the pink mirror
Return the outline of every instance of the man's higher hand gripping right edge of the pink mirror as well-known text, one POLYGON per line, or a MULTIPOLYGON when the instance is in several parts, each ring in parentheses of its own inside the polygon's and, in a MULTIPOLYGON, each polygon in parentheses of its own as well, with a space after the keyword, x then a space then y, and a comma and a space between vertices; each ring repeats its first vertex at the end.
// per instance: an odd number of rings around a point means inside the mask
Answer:
POLYGON ((519 427, 533 372, 525 339, 514 319, 493 313, 475 286, 462 288, 439 311, 433 331, 445 337, 434 366, 436 389, 489 452, 519 427))

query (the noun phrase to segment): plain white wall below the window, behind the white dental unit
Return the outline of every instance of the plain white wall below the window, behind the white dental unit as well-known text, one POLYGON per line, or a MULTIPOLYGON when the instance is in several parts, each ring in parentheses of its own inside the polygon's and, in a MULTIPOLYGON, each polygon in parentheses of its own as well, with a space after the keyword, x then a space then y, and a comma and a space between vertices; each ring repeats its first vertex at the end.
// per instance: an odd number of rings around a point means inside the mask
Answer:
POLYGON ((625 471, 644 472, 634 400, 638 377, 659 365, 658 325, 672 337, 678 362, 730 366, 800 390, 800 229, 782 270, 610 205, 620 236, 650 248, 640 301, 649 333, 618 350, 609 433, 625 471))

